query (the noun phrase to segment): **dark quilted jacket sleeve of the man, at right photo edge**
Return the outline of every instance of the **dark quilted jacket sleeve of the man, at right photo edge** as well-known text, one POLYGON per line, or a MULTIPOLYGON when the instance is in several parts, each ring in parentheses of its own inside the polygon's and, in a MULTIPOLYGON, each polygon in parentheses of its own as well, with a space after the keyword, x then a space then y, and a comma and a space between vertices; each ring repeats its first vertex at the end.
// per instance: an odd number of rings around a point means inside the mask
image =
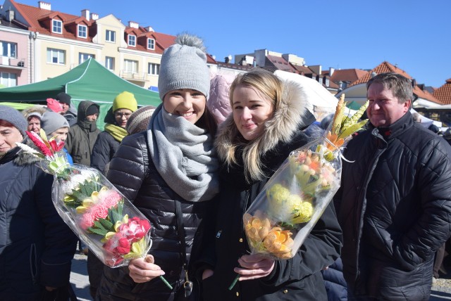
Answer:
POLYGON ((451 147, 437 137, 419 154, 416 185, 421 215, 412 228, 393 241, 397 262, 407 269, 428 260, 451 235, 451 147))

